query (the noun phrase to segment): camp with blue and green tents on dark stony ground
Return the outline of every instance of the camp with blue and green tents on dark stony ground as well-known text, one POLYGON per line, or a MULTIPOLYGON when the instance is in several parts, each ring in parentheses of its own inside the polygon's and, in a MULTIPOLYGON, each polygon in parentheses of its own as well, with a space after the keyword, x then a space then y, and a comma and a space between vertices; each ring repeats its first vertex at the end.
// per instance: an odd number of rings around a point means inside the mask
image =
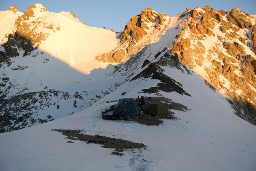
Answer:
POLYGON ((171 109, 181 111, 189 110, 186 106, 172 102, 172 100, 164 97, 144 97, 145 110, 140 109, 136 103, 136 98, 121 98, 117 100, 116 105, 110 106, 110 109, 102 111, 102 118, 105 120, 124 120, 121 116, 121 107, 123 101, 126 100, 127 117, 126 121, 136 121, 140 124, 158 126, 162 123, 161 119, 175 119, 171 109))

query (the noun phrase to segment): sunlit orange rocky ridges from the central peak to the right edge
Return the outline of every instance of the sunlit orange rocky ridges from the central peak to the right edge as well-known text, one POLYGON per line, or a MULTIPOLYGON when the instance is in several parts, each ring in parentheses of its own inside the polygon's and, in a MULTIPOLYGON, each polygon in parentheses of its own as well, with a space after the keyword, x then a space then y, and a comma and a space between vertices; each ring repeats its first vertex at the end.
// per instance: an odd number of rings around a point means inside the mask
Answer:
MULTIPOLYGON (((127 23, 119 37, 120 46, 96 59, 122 63, 143 55, 140 51, 150 43, 145 40, 156 40, 173 19, 146 8, 127 23)), ((224 93, 236 114, 252 124, 256 118, 255 21, 255 16, 237 8, 186 8, 178 15, 176 38, 162 47, 168 48, 170 55, 177 53, 179 61, 190 69, 202 68, 200 75, 206 82, 224 93)))

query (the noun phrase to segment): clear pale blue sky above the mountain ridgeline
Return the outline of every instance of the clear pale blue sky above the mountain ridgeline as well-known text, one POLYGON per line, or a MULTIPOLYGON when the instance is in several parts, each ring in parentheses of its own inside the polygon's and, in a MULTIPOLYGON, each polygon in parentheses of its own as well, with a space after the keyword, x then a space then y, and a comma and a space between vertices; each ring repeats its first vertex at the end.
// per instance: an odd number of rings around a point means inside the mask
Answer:
POLYGON ((44 4, 50 12, 74 12, 76 17, 90 27, 106 27, 123 31, 127 22, 142 10, 151 6, 159 13, 176 16, 185 11, 209 5, 215 10, 240 8, 251 15, 256 14, 256 0, 0 0, 0 11, 6 11, 14 4, 20 12, 29 5, 44 4))

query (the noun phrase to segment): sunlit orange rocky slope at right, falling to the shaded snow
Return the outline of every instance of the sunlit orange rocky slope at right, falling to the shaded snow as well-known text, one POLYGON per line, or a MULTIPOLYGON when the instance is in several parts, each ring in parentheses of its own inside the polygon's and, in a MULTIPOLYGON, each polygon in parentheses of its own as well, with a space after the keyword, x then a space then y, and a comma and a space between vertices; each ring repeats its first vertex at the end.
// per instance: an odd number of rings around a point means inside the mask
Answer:
POLYGON ((236 114, 254 123, 255 16, 240 9, 225 12, 208 6, 183 15, 187 19, 180 24, 182 32, 174 40, 177 43, 174 43, 173 51, 180 52, 180 61, 184 65, 191 69, 201 67, 202 77, 230 99, 236 114), (214 41, 209 42, 209 39, 214 41))

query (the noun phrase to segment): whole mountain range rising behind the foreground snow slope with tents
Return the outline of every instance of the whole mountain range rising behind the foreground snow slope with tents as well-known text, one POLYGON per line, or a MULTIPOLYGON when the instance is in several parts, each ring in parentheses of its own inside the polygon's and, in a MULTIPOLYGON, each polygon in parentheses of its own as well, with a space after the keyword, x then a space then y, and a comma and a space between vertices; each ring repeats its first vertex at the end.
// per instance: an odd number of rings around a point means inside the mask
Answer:
POLYGON ((166 67, 198 75, 255 125, 255 18, 237 8, 186 8, 171 17, 148 7, 115 33, 87 26, 74 13, 41 4, 20 13, 14 5, 0 12, 0 130, 75 114, 115 93, 191 96, 166 67), (141 78, 146 87, 120 92, 141 78))

